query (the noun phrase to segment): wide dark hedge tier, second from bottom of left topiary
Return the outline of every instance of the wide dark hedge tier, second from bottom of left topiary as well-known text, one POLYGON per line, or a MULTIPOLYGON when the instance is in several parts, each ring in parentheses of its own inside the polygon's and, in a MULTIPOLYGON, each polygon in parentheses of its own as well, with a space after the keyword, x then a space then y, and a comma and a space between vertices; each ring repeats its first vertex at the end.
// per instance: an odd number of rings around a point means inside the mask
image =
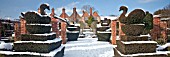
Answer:
POLYGON ((14 43, 14 50, 16 52, 37 52, 49 53, 61 46, 62 41, 56 43, 14 43))

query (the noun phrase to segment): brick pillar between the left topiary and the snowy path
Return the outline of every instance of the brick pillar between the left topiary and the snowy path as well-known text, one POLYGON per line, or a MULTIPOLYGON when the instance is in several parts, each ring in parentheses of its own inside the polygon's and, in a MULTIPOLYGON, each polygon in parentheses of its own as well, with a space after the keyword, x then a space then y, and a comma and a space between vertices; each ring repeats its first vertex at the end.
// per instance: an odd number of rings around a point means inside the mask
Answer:
POLYGON ((62 38, 62 43, 66 44, 66 23, 61 22, 61 38, 62 38))

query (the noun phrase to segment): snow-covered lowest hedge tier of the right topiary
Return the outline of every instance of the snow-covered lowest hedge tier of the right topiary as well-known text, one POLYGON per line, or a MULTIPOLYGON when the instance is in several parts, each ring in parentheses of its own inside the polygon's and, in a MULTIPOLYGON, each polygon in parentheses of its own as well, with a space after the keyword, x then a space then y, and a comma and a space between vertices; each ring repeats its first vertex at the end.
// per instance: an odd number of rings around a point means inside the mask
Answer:
POLYGON ((167 57, 167 53, 138 53, 138 54, 122 54, 117 48, 114 48, 114 57, 167 57))

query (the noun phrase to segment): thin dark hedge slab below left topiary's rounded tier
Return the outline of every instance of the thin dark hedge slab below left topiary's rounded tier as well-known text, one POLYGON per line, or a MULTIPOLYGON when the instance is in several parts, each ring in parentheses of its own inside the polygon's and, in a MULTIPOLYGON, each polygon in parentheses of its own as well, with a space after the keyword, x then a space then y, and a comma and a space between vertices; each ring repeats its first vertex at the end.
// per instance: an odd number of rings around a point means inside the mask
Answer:
POLYGON ((56 34, 48 35, 48 36, 38 36, 38 35, 30 35, 30 34, 22 34, 21 35, 21 41, 46 41, 46 40, 52 40, 56 38, 56 34))

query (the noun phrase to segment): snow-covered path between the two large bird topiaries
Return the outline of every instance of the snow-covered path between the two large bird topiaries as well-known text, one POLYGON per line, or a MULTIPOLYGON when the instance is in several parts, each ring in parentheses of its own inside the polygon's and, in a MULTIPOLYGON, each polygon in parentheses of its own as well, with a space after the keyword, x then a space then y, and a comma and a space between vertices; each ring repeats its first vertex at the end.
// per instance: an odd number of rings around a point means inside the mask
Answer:
POLYGON ((97 38, 78 38, 65 44, 64 57, 113 57, 113 45, 97 41, 97 38))

